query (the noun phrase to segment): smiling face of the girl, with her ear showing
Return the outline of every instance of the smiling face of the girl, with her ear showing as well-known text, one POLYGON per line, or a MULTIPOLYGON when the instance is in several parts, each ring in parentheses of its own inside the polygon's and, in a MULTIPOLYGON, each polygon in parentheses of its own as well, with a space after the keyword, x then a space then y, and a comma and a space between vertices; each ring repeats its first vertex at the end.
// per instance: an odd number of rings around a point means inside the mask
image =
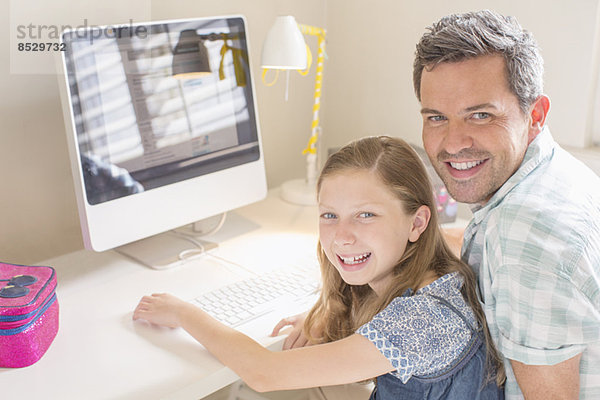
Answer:
MULTIPOLYGON (((319 191, 321 247, 349 285, 368 284, 378 295, 422 222, 373 172, 344 170, 326 177, 319 191), (416 223, 415 223, 416 221, 416 223)), ((427 221, 425 221, 425 227, 427 221)))

